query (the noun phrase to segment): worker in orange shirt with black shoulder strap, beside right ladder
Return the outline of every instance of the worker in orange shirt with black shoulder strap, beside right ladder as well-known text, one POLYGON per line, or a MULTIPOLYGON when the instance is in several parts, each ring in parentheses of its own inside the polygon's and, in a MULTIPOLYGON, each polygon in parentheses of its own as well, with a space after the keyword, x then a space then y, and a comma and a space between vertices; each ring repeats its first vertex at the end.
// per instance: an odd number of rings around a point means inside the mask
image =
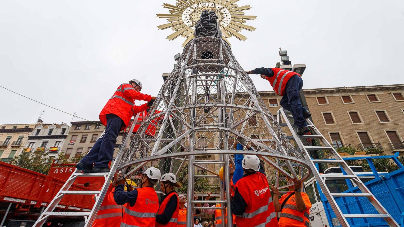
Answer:
POLYGON ((283 195, 280 200, 278 189, 271 185, 271 191, 274 193, 274 206, 276 212, 280 213, 279 227, 309 227, 309 214, 311 202, 306 193, 300 192, 301 182, 299 180, 286 177, 288 184, 294 183, 289 187, 289 192, 283 195))

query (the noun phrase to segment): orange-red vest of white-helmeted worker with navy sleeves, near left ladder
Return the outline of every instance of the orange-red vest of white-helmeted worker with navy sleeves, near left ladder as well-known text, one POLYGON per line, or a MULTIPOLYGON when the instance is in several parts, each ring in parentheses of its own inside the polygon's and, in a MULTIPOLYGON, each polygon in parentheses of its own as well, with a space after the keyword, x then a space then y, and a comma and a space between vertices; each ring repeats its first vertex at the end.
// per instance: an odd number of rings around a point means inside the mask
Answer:
POLYGON ((121 227, 154 227, 158 212, 158 197, 152 187, 142 187, 137 190, 134 206, 126 205, 121 227))

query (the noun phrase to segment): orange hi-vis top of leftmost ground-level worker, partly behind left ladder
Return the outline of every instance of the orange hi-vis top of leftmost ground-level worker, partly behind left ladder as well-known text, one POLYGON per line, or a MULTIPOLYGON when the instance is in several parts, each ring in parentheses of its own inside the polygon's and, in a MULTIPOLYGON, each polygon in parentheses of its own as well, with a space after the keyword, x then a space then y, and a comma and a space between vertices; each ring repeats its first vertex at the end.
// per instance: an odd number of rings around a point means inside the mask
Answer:
MULTIPOLYGON (((125 206, 116 204, 114 191, 115 187, 110 184, 91 227, 119 227, 121 225, 123 208, 125 206)), ((93 196, 93 202, 95 202, 95 196, 93 196)))

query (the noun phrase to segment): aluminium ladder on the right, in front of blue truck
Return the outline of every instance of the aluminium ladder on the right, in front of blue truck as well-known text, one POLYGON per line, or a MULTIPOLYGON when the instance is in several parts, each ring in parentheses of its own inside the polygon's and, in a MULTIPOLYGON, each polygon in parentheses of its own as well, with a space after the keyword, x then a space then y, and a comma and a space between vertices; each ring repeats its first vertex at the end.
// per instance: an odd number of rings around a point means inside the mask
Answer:
POLYGON ((398 223, 391 217, 389 212, 380 204, 380 202, 376 199, 376 197, 368 190, 368 188, 364 185, 364 183, 359 179, 359 177, 352 171, 352 169, 347 165, 347 163, 341 158, 338 152, 334 149, 334 147, 326 140, 326 138, 320 133, 320 131, 314 126, 314 124, 307 119, 307 125, 310 128, 312 135, 297 135, 297 129, 292 125, 290 119, 293 119, 291 113, 289 111, 280 108, 278 110, 277 121, 281 126, 287 126, 292 133, 292 137, 290 139, 294 140, 297 146, 300 148, 303 156, 306 158, 307 163, 311 168, 311 172, 316 177, 318 184, 321 187, 322 192, 326 196, 332 210, 337 216, 339 223, 342 227, 349 227, 349 223, 347 218, 383 218, 390 227, 399 227, 398 223), (281 116, 286 122, 282 123, 281 116), (318 139, 324 146, 305 146, 302 142, 302 139, 318 139), (330 152, 329 155, 322 159, 313 159, 310 156, 309 150, 328 150, 330 152), (362 193, 331 193, 328 189, 325 181, 326 177, 321 175, 316 168, 317 163, 328 163, 328 164, 337 164, 343 169, 344 175, 335 175, 332 176, 333 179, 345 179, 347 184, 351 181, 354 182, 358 189, 362 191, 362 193), (378 214, 343 214, 341 209, 339 208, 337 202, 334 199, 335 197, 366 197, 372 206, 379 212, 378 214))

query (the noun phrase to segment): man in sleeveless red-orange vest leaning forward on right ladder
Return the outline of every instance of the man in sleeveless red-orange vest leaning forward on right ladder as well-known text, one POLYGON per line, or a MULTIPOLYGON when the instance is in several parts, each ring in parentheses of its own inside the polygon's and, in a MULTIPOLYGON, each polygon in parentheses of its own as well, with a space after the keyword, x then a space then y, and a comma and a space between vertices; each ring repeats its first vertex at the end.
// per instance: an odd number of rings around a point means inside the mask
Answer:
POLYGON ((285 110, 292 112, 295 125, 298 128, 297 134, 304 135, 310 131, 305 119, 311 117, 311 113, 302 106, 299 99, 299 91, 303 87, 303 79, 299 73, 280 68, 257 68, 246 73, 260 74, 262 79, 271 83, 276 94, 283 96, 280 105, 285 110))

